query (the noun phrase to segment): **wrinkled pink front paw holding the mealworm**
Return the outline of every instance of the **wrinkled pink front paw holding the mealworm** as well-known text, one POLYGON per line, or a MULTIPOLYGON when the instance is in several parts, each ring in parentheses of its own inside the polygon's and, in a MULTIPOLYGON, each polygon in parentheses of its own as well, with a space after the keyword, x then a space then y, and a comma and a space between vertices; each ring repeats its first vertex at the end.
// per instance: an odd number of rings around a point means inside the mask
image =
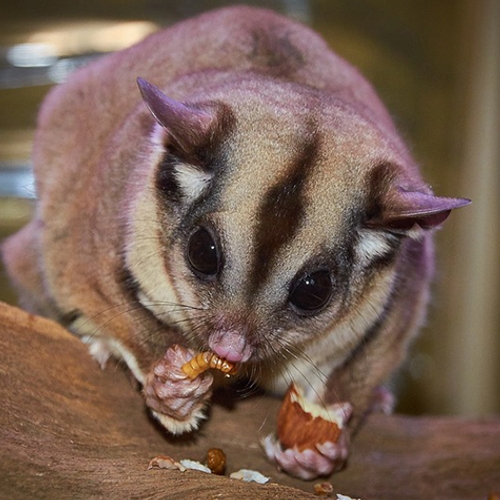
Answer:
POLYGON ((153 415, 173 434, 196 429, 205 418, 211 396, 210 373, 191 379, 181 369, 192 357, 193 353, 184 347, 170 347, 147 375, 143 388, 153 415))

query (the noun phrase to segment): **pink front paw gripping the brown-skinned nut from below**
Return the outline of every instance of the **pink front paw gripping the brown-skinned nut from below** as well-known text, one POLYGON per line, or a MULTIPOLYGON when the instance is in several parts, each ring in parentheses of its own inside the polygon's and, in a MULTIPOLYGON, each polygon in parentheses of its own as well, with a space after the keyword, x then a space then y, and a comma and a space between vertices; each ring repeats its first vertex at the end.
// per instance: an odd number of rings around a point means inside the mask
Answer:
POLYGON ((274 436, 267 436, 263 441, 267 457, 276 465, 299 479, 309 480, 341 470, 349 455, 349 435, 340 434, 333 443, 316 444, 314 448, 300 450, 297 447, 283 449, 274 436))

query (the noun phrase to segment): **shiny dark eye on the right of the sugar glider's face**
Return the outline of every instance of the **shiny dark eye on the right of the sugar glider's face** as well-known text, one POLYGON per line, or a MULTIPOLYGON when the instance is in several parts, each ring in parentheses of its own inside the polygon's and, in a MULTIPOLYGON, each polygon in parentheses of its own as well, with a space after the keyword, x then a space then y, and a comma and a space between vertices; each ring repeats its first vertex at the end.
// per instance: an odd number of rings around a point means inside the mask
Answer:
POLYGON ((288 298, 299 313, 323 309, 332 296, 332 280, 328 271, 306 274, 298 280, 288 298))

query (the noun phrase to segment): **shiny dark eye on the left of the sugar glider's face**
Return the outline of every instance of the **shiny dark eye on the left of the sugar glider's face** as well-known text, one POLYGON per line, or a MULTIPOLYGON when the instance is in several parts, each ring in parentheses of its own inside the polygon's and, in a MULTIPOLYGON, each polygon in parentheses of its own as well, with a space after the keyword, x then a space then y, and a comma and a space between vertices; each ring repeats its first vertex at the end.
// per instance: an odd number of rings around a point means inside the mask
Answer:
POLYGON ((194 231, 188 242, 188 261, 193 271, 202 278, 219 272, 220 255, 213 236, 204 228, 194 231))

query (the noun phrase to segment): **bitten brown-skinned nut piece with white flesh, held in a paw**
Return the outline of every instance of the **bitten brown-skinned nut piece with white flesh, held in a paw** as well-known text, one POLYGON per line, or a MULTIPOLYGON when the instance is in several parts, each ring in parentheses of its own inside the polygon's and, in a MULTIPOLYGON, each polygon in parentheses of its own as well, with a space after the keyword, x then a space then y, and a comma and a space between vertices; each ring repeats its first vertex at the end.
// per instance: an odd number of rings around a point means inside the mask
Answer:
POLYGON ((278 439, 285 449, 314 450, 318 444, 335 443, 348 416, 341 405, 311 403, 292 383, 278 414, 278 439))

